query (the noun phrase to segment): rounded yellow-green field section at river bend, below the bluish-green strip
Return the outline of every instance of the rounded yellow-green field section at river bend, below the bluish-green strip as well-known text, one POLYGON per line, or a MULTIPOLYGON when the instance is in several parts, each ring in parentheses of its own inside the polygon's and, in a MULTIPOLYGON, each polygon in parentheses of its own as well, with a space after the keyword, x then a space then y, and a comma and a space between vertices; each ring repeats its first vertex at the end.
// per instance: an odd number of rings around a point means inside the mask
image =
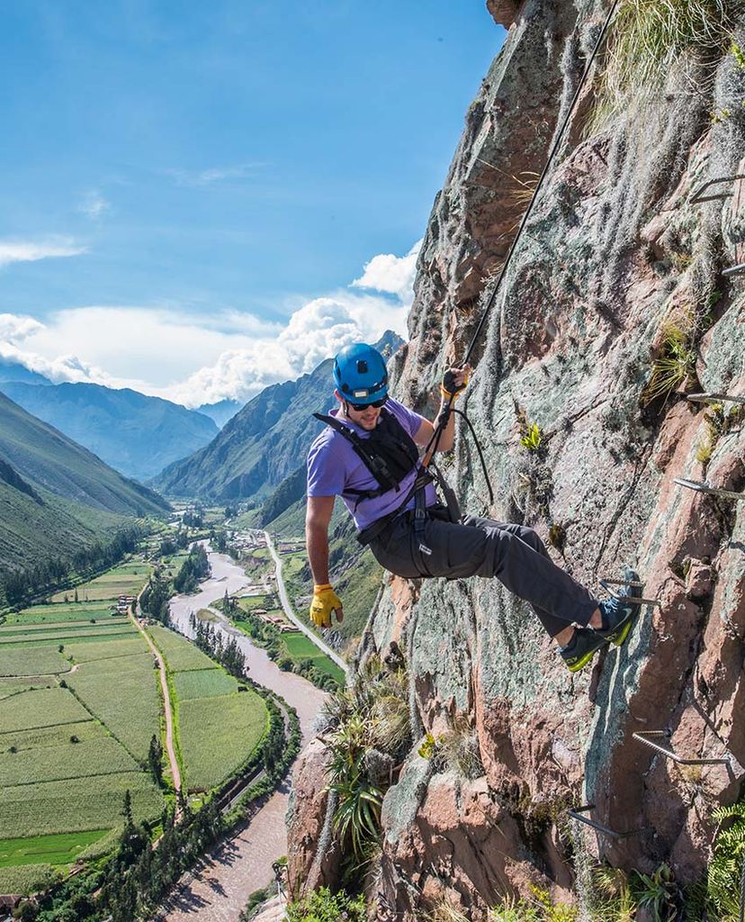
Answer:
POLYGON ((208 790, 233 774, 261 742, 268 720, 254 691, 181 702, 180 746, 189 790, 208 790))

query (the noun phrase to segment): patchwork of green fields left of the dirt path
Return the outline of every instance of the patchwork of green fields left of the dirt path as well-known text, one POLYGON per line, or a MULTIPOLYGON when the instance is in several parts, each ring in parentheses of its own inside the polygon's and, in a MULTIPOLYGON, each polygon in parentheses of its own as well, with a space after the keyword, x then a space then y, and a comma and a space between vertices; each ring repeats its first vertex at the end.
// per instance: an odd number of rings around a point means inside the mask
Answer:
POLYGON ((111 613, 149 567, 128 563, 0 625, 0 893, 26 892, 113 845, 129 789, 135 820, 163 793, 145 770, 160 733, 157 671, 134 623, 111 613), (98 852, 97 852, 98 850, 98 852))

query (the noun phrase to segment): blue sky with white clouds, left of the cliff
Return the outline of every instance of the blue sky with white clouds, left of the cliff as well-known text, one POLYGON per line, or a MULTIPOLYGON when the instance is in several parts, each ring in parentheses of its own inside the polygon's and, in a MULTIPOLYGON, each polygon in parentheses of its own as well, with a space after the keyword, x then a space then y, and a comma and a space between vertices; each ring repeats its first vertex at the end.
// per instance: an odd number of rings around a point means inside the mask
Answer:
POLYGON ((193 403, 373 335, 504 35, 483 0, 10 0, 5 353, 193 403))

